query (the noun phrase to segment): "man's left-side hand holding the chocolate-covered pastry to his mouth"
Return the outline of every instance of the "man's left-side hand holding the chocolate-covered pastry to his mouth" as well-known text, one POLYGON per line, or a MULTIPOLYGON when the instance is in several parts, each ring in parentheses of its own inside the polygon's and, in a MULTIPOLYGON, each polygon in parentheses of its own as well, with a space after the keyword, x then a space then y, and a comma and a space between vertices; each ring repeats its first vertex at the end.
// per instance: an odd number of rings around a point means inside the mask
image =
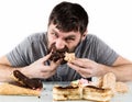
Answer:
POLYGON ((50 78, 52 77, 57 66, 61 64, 61 60, 53 63, 51 61, 51 65, 47 66, 45 61, 51 57, 51 54, 46 55, 43 58, 40 58, 38 60, 34 61, 30 66, 26 66, 21 69, 21 72, 25 73, 30 78, 50 78))

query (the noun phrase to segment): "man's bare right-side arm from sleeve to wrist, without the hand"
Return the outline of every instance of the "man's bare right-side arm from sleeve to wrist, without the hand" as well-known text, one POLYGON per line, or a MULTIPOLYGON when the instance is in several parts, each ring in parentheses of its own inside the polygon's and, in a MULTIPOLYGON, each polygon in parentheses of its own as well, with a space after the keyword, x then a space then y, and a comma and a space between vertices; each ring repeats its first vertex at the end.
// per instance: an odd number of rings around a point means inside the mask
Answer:
POLYGON ((113 72, 118 81, 132 81, 132 61, 119 56, 111 67, 100 65, 106 72, 113 72))

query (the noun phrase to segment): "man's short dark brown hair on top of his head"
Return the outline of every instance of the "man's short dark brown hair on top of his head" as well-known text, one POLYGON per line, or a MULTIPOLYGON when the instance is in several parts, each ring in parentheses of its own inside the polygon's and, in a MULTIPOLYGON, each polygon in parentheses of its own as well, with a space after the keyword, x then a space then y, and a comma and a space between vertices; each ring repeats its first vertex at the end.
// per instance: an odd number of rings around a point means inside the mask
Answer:
POLYGON ((64 1, 53 9, 48 25, 51 23, 63 32, 79 31, 84 34, 88 25, 88 14, 80 4, 64 1))

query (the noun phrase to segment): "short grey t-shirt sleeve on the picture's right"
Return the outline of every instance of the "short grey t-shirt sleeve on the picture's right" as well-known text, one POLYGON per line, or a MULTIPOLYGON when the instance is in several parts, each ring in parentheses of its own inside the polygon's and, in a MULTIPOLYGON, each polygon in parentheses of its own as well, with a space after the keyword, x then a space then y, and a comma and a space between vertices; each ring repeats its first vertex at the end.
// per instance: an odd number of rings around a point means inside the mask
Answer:
POLYGON ((118 54, 100 38, 96 37, 96 60, 99 64, 111 66, 118 58, 118 54))

